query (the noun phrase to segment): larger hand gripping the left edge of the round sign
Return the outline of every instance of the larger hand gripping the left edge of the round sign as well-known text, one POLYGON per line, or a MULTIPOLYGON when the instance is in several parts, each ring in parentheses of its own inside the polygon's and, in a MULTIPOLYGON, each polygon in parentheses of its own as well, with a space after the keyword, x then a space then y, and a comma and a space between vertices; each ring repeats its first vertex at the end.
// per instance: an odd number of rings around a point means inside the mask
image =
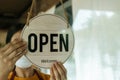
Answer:
POLYGON ((27 53, 26 48, 26 42, 18 39, 15 39, 3 48, 0 48, 0 78, 2 78, 2 80, 7 80, 16 61, 27 53))

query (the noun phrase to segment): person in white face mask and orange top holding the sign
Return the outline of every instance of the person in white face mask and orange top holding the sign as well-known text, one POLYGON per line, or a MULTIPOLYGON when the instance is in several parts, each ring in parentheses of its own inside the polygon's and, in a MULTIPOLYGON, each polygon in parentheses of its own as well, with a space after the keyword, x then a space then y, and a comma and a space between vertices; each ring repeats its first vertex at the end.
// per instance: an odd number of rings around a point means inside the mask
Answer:
POLYGON ((53 63, 50 75, 35 68, 24 56, 27 43, 20 39, 20 34, 21 30, 16 31, 11 40, 0 47, 0 80, 67 80, 67 71, 61 62, 53 63))

